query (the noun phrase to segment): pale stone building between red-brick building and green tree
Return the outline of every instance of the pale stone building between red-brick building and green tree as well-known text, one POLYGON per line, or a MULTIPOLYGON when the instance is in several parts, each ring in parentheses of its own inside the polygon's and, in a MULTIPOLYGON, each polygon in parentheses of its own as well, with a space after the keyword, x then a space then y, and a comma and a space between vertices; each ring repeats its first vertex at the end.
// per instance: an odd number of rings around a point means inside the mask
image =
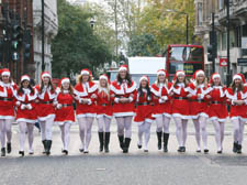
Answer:
MULTIPOLYGON (((52 40, 58 32, 57 0, 44 0, 45 2, 45 70, 52 73, 52 40)), ((42 73, 42 1, 33 0, 33 43, 35 79, 41 80, 42 73)))

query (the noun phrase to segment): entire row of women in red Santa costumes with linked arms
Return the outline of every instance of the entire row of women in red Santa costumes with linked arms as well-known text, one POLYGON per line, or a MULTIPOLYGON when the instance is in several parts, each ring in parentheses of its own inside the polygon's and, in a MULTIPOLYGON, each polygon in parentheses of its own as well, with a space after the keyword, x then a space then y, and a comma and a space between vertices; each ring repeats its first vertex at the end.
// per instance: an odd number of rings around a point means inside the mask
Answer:
POLYGON ((41 84, 31 86, 31 79, 23 75, 20 85, 13 83, 11 73, 0 72, 0 140, 1 156, 11 153, 11 126, 16 121, 20 128, 21 156, 25 155, 27 133, 29 154, 34 154, 34 124, 38 121, 43 153, 50 154, 53 127, 61 133, 63 150, 67 155, 70 141, 70 127, 79 124, 81 153, 89 153, 91 129, 94 118, 98 122, 99 151, 110 152, 111 121, 117 124, 117 138, 123 153, 128 153, 132 141, 132 123, 138 126, 138 149, 148 152, 150 127, 156 122, 157 148, 168 152, 169 124, 176 123, 178 152, 186 152, 188 120, 192 119, 195 129, 197 152, 209 153, 206 122, 215 128, 217 153, 223 152, 225 121, 229 116, 234 126, 233 152, 242 153, 244 126, 247 120, 247 87, 242 74, 233 76, 226 88, 220 74, 215 73, 207 81, 203 70, 197 70, 190 81, 186 73, 178 70, 172 81, 168 81, 165 69, 157 72, 157 80, 150 85, 147 76, 139 79, 139 86, 132 80, 126 65, 119 68, 117 77, 110 81, 106 75, 92 80, 89 69, 82 69, 77 85, 63 78, 58 87, 52 84, 48 72, 41 75, 41 84), (76 112, 74 111, 76 104, 76 112), (227 111, 227 105, 231 111, 227 111), (77 120, 77 121, 76 121, 77 120), (134 121, 133 121, 134 120, 134 121), (201 139, 202 144, 201 145, 201 139))

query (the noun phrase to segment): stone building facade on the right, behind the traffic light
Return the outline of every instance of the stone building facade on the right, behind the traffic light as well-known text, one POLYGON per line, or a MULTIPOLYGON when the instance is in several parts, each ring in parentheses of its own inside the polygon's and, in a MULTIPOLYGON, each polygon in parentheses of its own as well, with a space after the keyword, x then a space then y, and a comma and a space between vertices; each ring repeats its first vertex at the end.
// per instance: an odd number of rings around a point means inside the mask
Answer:
MULTIPOLYGON (((206 46, 210 45, 210 31, 212 29, 212 13, 217 37, 217 58, 215 70, 226 77, 226 67, 220 66, 220 58, 227 56, 227 19, 225 0, 194 0, 195 3, 195 35, 202 41, 205 48, 205 70, 212 73, 212 63, 207 62, 206 46)), ((229 46, 231 72, 246 73, 247 67, 237 65, 238 58, 247 58, 247 0, 229 0, 229 46)), ((225 80, 225 78, 224 78, 225 80)))

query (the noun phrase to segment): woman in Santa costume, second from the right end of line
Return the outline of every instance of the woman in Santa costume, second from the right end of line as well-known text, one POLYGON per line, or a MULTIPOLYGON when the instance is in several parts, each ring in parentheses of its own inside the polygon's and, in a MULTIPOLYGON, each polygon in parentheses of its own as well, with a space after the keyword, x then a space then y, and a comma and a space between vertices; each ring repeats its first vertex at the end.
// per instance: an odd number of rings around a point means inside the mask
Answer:
POLYGON ((221 154, 223 151, 224 129, 225 121, 228 117, 226 108, 226 87, 221 81, 221 75, 214 73, 210 79, 210 87, 207 89, 207 96, 210 106, 207 108, 207 115, 210 120, 214 124, 215 129, 215 141, 217 144, 217 153, 221 154))

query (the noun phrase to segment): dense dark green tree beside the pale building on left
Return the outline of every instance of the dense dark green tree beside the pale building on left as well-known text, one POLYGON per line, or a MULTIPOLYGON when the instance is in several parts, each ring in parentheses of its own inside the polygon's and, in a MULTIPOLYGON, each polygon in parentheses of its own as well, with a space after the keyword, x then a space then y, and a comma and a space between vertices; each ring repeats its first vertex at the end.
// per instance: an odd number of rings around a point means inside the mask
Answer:
POLYGON ((108 44, 90 26, 93 14, 66 0, 58 0, 58 34, 52 43, 53 76, 60 78, 81 68, 96 68, 110 63, 108 44))

